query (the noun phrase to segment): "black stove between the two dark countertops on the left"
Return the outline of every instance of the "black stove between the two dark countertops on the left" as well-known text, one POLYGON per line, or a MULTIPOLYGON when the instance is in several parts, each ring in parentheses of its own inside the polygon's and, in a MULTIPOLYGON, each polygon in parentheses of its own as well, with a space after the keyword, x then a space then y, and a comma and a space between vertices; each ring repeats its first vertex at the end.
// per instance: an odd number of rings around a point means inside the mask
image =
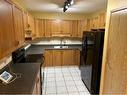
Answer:
MULTIPOLYGON (((41 87, 44 80, 44 71, 43 71, 43 63, 44 63, 43 54, 27 54, 24 48, 20 48, 12 53, 12 61, 14 64, 27 64, 27 63, 41 63, 40 68, 40 83, 41 87)), ((41 88, 42 89, 42 88, 41 88)), ((42 90, 41 90, 42 93, 42 90)))

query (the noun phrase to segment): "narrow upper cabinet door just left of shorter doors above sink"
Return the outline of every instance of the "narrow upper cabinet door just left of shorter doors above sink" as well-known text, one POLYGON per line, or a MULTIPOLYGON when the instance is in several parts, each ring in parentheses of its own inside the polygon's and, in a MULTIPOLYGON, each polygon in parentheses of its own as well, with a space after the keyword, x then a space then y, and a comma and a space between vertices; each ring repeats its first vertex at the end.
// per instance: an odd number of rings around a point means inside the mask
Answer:
POLYGON ((51 20, 45 20, 45 37, 51 37, 51 20))

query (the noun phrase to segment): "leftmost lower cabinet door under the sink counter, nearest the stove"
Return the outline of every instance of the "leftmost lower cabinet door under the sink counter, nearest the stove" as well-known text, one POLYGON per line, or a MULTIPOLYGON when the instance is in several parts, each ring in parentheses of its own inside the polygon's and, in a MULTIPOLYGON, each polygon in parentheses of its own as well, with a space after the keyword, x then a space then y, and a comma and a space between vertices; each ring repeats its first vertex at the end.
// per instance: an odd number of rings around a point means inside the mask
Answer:
POLYGON ((45 66, 53 66, 53 51, 45 50, 45 66))

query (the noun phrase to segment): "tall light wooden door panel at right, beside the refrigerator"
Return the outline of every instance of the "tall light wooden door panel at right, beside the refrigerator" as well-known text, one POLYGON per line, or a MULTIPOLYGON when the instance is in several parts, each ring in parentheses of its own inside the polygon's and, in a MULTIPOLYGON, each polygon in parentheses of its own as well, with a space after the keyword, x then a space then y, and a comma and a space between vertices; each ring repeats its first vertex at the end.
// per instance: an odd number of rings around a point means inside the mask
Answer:
POLYGON ((111 13, 104 94, 126 94, 127 86, 127 9, 111 13), (115 81, 114 81, 115 80, 115 81))

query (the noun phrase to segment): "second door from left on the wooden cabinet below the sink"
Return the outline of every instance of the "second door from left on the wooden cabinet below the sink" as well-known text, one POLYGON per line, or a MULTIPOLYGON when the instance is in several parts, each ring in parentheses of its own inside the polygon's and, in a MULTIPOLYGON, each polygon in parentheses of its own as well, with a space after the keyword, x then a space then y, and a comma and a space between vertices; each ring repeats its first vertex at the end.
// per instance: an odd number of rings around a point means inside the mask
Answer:
POLYGON ((62 65, 62 51, 53 50, 53 66, 61 66, 61 65, 62 65))

